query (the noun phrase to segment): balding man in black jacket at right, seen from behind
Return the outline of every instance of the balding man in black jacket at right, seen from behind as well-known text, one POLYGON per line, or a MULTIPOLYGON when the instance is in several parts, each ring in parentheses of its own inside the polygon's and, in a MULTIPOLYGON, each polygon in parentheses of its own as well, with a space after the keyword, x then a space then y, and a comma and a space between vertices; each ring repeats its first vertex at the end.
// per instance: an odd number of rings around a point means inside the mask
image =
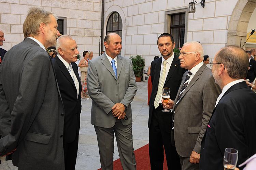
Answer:
POLYGON ((202 140, 201 170, 223 169, 225 148, 238 150, 237 166, 256 153, 256 95, 244 81, 247 68, 248 56, 238 46, 214 57, 212 73, 222 93, 202 140))

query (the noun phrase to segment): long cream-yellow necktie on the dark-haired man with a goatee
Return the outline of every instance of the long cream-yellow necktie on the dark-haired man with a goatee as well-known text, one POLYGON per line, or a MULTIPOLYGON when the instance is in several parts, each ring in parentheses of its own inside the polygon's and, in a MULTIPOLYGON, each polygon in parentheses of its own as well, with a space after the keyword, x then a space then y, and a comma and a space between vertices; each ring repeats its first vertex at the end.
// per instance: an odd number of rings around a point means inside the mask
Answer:
POLYGON ((163 84, 165 83, 166 64, 167 64, 167 61, 166 60, 163 61, 163 68, 162 68, 162 71, 161 71, 161 74, 160 74, 157 94, 156 94, 156 98, 155 98, 155 101, 154 101, 155 108, 157 108, 159 106, 159 100, 160 100, 160 97, 162 96, 163 84))

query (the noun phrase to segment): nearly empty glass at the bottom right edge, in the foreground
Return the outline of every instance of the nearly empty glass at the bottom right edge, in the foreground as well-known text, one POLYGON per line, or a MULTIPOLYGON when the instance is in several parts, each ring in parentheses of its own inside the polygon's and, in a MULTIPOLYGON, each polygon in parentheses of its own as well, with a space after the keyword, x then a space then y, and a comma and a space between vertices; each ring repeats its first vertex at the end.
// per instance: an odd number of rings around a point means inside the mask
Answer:
POLYGON ((226 148, 223 157, 224 170, 235 169, 237 166, 238 150, 226 148))

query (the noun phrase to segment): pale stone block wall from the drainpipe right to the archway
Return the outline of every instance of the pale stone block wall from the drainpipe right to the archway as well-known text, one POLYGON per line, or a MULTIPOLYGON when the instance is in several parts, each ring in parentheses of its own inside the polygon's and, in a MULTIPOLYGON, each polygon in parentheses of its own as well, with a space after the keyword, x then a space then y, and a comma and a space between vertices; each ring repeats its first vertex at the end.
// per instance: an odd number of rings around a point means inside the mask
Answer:
MULTIPOLYGON (((196 4, 196 13, 188 14, 187 41, 200 41, 211 60, 227 43, 228 23, 238 0, 207 0, 196 4)), ((105 0, 105 12, 116 6, 125 15, 125 56, 140 54, 145 69, 155 55, 160 55, 157 37, 164 32, 165 12, 186 8, 190 0, 105 0)), ((104 20, 107 22, 108 18, 104 20)), ((170 26, 166 26, 170 27, 170 26)))

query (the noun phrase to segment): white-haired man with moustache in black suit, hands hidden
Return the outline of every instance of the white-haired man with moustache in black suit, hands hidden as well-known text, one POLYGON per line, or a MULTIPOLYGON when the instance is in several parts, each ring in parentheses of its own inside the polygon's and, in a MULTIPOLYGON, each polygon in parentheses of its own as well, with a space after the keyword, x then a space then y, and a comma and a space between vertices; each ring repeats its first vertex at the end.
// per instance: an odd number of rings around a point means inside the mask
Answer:
POLYGON ((74 170, 78 148, 80 129, 81 91, 77 65, 77 45, 69 35, 61 35, 57 40, 57 57, 53 58, 53 66, 65 109, 63 148, 65 169, 74 170))

